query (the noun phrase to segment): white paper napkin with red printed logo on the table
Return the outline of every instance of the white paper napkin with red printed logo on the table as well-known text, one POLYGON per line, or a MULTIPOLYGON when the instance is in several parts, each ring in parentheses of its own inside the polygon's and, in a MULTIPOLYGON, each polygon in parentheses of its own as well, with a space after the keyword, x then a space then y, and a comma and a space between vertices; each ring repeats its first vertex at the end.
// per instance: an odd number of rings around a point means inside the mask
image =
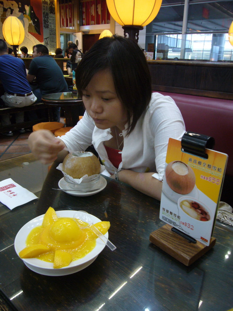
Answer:
POLYGON ((37 198, 34 193, 21 187, 11 178, 0 182, 0 201, 10 210, 37 198))

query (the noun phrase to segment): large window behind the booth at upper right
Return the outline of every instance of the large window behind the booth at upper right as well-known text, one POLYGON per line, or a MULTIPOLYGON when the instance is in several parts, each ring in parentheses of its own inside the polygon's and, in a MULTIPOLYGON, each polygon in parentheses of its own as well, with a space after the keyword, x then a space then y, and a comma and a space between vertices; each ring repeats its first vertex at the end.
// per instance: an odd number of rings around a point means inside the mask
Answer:
POLYGON ((233 61, 228 41, 232 21, 231 0, 190 0, 187 6, 183 1, 163 1, 146 28, 145 49, 153 49, 154 59, 233 61))

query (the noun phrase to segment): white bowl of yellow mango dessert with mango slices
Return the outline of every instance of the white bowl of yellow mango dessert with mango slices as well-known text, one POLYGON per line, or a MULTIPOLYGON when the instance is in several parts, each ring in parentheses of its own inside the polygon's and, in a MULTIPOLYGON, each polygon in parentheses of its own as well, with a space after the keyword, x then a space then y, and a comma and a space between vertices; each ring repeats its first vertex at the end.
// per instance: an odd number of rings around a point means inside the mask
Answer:
MULTIPOLYGON (((26 223, 17 233, 15 250, 34 272, 62 276, 88 267, 105 247, 89 228, 74 220, 77 211, 56 211, 49 207, 44 215, 26 223)), ((85 219, 85 212, 80 211, 85 219)), ((94 226, 108 238, 109 221, 89 215, 94 226)))

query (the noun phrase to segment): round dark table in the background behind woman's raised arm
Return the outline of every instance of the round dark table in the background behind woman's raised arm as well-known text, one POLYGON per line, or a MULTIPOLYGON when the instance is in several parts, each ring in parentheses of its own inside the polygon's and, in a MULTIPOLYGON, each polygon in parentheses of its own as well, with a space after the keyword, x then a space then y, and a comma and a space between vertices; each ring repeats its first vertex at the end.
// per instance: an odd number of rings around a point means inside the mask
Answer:
MULTIPOLYGON (((42 96, 44 104, 59 106, 65 111, 66 126, 75 126, 79 116, 84 114, 83 100, 78 98, 77 92, 61 92, 42 96)), ((49 121, 53 122, 53 115, 49 113, 49 121)))

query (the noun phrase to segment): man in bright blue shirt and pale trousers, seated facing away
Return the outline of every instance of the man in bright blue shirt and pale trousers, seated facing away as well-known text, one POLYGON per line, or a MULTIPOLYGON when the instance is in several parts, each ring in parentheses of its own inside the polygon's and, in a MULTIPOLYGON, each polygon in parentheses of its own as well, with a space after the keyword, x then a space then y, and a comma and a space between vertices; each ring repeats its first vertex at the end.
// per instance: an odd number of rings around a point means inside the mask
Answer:
MULTIPOLYGON (((5 90, 1 96, 4 104, 10 107, 25 107, 36 101, 30 84, 26 79, 25 64, 22 59, 8 54, 7 44, 0 39, 0 80, 5 90)), ((16 114, 16 123, 24 122, 24 112, 16 114)), ((2 125, 10 125, 10 115, 2 115, 2 125)), ((24 133, 25 130, 21 129, 24 133)), ((12 136, 12 132, 3 133, 12 136)))

